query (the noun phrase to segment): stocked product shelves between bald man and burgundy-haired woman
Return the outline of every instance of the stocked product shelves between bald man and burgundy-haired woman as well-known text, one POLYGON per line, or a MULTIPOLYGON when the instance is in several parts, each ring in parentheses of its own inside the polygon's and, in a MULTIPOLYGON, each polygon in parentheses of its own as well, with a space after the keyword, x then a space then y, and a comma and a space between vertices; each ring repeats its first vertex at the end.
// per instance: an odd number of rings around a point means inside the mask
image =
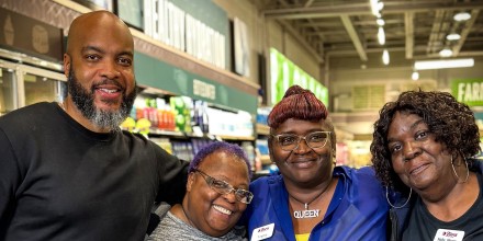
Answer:
POLYGON ((255 147, 250 140, 254 136, 252 117, 243 111, 223 111, 211 107, 205 101, 187 96, 141 93, 121 127, 144 134, 170 153, 188 161, 210 142, 233 137, 232 141, 244 148, 255 167, 255 147))

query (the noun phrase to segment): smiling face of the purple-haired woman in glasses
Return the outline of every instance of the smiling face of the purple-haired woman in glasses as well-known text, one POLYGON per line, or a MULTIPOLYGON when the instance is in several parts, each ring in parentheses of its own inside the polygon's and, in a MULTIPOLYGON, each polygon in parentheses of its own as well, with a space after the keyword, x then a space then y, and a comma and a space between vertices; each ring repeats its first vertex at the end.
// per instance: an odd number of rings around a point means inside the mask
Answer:
MULTIPOLYGON (((198 169, 216 180, 225 181, 234 188, 248 190, 247 164, 233 154, 215 151, 198 169)), ((199 172, 190 173, 183 202, 191 223, 212 237, 227 233, 247 208, 246 204, 236 199, 234 192, 222 195, 211 188, 199 172)))

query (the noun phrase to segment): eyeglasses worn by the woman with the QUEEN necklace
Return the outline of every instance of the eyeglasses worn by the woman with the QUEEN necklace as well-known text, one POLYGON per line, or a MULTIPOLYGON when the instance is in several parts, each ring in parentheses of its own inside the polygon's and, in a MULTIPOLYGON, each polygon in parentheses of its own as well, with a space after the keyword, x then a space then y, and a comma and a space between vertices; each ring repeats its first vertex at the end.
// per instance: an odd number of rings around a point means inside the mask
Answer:
POLYGON ((299 147, 302 139, 305 140, 305 144, 307 144, 307 146, 312 149, 325 147, 330 137, 330 131, 315 131, 307 134, 304 137, 295 134, 280 134, 271 136, 276 138, 282 150, 292 151, 299 147))

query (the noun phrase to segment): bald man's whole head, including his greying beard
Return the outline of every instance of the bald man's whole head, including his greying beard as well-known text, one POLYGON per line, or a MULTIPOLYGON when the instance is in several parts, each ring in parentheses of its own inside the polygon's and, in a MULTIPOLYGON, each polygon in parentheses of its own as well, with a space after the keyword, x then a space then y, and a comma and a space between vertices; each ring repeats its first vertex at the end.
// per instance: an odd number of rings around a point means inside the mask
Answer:
POLYGON ((115 15, 99 11, 79 16, 64 56, 67 100, 96 126, 119 126, 135 99, 133 60, 133 37, 115 15))

